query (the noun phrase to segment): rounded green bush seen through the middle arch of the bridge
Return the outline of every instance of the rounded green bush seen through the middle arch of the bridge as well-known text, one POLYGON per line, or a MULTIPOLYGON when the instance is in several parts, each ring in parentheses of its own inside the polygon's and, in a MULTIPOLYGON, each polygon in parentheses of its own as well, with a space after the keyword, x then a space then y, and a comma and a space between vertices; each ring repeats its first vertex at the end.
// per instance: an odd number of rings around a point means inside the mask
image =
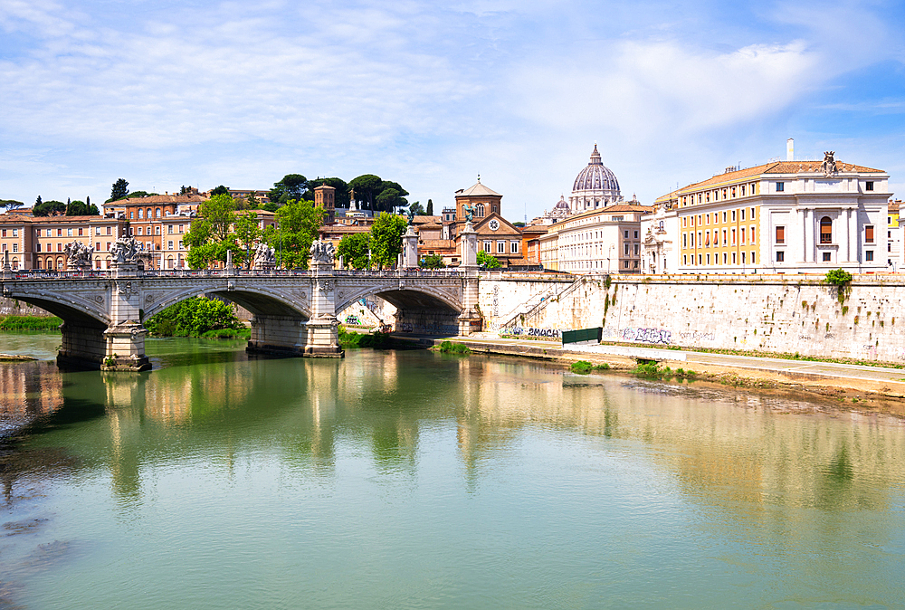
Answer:
POLYGON ((233 306, 222 300, 192 297, 167 307, 145 322, 145 328, 161 337, 250 337, 233 306))

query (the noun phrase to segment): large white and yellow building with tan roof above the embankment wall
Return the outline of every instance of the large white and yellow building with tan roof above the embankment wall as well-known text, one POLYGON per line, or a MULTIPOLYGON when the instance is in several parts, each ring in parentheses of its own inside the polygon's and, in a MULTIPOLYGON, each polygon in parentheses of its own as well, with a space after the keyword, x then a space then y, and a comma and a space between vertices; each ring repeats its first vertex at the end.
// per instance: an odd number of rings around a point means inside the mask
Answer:
POLYGON ((889 174, 836 161, 772 161, 657 200, 674 216, 681 273, 874 273, 887 266, 889 174))

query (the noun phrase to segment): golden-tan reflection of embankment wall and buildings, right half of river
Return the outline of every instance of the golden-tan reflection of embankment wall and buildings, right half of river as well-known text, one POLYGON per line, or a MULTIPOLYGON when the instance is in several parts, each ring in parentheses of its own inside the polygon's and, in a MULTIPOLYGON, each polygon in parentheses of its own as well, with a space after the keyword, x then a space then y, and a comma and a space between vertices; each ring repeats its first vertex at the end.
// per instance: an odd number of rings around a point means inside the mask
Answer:
POLYGON ((771 395, 712 396, 613 377, 538 383, 523 365, 491 359, 462 369, 457 440, 467 469, 532 426, 662 446, 643 454, 686 493, 735 510, 789 502, 882 510, 905 470, 905 426, 876 425, 883 415, 786 415, 795 405, 771 395))

